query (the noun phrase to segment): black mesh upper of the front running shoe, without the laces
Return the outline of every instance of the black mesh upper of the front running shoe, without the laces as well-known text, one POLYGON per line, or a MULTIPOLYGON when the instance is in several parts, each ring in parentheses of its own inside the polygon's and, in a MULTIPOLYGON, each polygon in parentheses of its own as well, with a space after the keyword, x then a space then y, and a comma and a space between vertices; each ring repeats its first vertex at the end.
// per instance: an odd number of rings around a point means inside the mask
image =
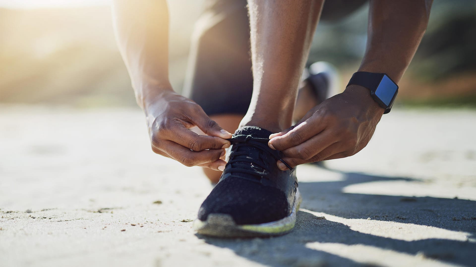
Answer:
MULTIPOLYGON (((271 132, 257 127, 243 127, 238 129, 234 136, 241 134, 268 138, 271 132)), ((258 147, 241 145, 237 146, 236 149, 238 149, 237 156, 234 156, 232 152, 230 159, 236 160, 238 158, 238 162, 227 165, 224 175, 228 176, 218 182, 203 202, 198 211, 198 219, 206 220, 208 214, 211 213, 224 213, 231 215, 237 224, 242 225, 265 223, 288 216, 290 212, 289 203, 283 191, 272 186, 263 185, 257 179, 257 175, 233 172, 233 170, 237 170, 235 168, 243 168, 243 166, 248 166, 245 168, 249 171, 262 172, 263 169, 248 162, 247 157, 252 157, 255 161, 262 161, 262 165, 266 165, 268 168, 277 168, 276 159, 270 155, 270 152, 265 152, 258 147), (245 151, 248 155, 240 154, 245 151), (243 163, 239 162, 240 158, 243 159, 243 163), (243 175, 250 178, 246 179, 243 175)))

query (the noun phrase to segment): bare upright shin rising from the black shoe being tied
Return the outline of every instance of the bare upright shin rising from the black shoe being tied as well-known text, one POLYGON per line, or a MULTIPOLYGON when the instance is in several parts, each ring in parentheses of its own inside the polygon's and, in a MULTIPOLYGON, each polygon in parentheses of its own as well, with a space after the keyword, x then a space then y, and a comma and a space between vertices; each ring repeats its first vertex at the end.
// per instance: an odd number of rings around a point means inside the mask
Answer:
POLYGON ((240 125, 272 132, 291 126, 322 5, 323 1, 307 0, 249 1, 253 95, 240 125))

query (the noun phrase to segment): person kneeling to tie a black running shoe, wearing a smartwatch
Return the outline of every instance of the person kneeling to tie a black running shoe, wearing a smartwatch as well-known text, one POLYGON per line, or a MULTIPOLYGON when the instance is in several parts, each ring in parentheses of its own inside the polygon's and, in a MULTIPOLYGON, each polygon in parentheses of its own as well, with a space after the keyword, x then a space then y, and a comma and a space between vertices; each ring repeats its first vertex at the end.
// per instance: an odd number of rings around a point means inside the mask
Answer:
POLYGON ((119 49, 152 150, 207 168, 218 182, 199 210, 199 233, 287 233, 300 199, 295 167, 367 145, 397 97, 432 1, 371 0, 366 52, 345 88, 327 63, 305 71, 318 21, 345 18, 366 2, 207 0, 179 95, 169 83, 166 0, 114 0, 119 49))

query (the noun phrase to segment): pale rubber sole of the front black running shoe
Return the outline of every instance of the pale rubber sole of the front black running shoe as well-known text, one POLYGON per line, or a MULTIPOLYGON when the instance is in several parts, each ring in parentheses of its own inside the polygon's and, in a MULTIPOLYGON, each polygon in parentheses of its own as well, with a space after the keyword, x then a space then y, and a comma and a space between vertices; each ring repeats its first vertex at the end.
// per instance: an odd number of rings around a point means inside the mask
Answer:
POLYGON ((299 189, 294 198, 293 210, 291 214, 277 221, 237 225, 233 218, 228 214, 212 213, 208 215, 207 220, 196 219, 193 227, 198 234, 213 237, 266 237, 279 236, 288 233, 296 224, 296 214, 299 210, 302 198, 299 189))

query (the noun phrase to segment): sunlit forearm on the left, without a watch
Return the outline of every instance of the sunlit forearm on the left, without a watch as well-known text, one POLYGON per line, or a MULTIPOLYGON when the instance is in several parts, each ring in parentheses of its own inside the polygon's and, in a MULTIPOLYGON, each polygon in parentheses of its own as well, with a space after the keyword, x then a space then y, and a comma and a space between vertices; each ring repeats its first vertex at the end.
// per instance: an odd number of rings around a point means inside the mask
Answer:
POLYGON ((114 0, 113 21, 137 103, 145 109, 150 99, 169 83, 169 12, 166 0, 114 0))

